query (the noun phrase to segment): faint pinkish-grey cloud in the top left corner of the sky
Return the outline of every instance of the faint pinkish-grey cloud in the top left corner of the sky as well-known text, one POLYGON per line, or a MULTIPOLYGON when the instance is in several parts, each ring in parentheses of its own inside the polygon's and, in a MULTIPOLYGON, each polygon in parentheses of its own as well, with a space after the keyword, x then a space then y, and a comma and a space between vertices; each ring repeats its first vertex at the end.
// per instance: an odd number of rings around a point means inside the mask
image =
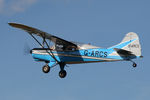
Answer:
POLYGON ((0 14, 14 14, 25 11, 37 0, 0 0, 0 14))

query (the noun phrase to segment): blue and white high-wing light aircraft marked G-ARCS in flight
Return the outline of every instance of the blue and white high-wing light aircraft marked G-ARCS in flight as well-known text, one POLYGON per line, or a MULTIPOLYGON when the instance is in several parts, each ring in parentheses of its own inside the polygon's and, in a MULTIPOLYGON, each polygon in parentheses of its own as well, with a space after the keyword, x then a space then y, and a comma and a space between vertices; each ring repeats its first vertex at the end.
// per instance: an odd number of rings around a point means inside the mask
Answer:
POLYGON ((10 26, 20 28, 29 33, 33 39, 41 46, 30 50, 35 61, 43 61, 46 64, 42 67, 44 73, 56 65, 60 66, 59 76, 64 78, 66 64, 81 64, 93 62, 131 61, 133 67, 137 64, 132 61, 141 58, 141 45, 139 37, 134 32, 126 34, 124 39, 117 45, 109 48, 101 48, 90 44, 79 44, 48 34, 39 29, 17 23, 8 23, 10 26), (42 38, 40 42, 36 36, 42 38), (47 41, 52 41, 50 46, 47 41))

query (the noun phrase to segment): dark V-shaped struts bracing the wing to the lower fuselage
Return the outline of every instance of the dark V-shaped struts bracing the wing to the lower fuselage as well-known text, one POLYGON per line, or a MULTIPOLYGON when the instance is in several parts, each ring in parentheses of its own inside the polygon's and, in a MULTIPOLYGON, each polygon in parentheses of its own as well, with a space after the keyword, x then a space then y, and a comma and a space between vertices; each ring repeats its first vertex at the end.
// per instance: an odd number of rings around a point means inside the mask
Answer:
MULTIPOLYGON (((32 37, 42 48, 44 48, 44 45, 42 45, 31 33, 29 33, 29 34, 31 35, 31 37, 32 37)), ((47 48, 50 50, 48 43, 46 42, 45 38, 43 37, 43 44, 44 44, 44 42, 46 43, 47 48)), ((57 63, 59 63, 59 61, 55 58, 55 56, 53 55, 53 53, 52 53, 51 50, 50 50, 50 53, 51 53, 51 54, 48 52, 48 50, 46 50, 46 52, 47 52, 52 58, 54 58, 57 63)))

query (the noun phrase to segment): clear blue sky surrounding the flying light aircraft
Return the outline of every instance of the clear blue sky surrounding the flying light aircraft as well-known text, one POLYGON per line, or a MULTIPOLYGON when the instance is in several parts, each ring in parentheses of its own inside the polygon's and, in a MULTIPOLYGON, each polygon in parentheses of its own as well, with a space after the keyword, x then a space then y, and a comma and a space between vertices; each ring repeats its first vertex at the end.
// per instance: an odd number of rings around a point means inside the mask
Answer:
POLYGON ((149 100, 149 0, 0 0, 1 100, 149 100), (24 55, 24 44, 38 47, 18 22, 66 40, 109 47, 126 33, 140 37, 143 59, 131 62, 69 65, 65 79, 59 66, 49 74, 45 63, 24 55))

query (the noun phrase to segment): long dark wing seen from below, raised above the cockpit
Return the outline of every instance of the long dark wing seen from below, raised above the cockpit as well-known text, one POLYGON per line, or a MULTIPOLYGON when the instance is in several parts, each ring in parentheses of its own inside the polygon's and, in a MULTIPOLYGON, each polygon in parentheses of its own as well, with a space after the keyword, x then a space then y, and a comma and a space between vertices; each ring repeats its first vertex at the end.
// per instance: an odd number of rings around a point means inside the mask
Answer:
POLYGON ((17 24, 17 23, 8 23, 8 24, 12 27, 20 28, 20 29, 28 32, 29 34, 35 34, 37 36, 42 37, 43 39, 49 39, 49 40, 53 41, 55 44, 63 45, 65 48, 70 48, 70 47, 77 48, 77 45, 72 42, 69 42, 69 41, 61 39, 59 37, 56 37, 54 35, 48 34, 46 32, 38 30, 36 28, 29 27, 29 26, 22 25, 22 24, 17 24))

